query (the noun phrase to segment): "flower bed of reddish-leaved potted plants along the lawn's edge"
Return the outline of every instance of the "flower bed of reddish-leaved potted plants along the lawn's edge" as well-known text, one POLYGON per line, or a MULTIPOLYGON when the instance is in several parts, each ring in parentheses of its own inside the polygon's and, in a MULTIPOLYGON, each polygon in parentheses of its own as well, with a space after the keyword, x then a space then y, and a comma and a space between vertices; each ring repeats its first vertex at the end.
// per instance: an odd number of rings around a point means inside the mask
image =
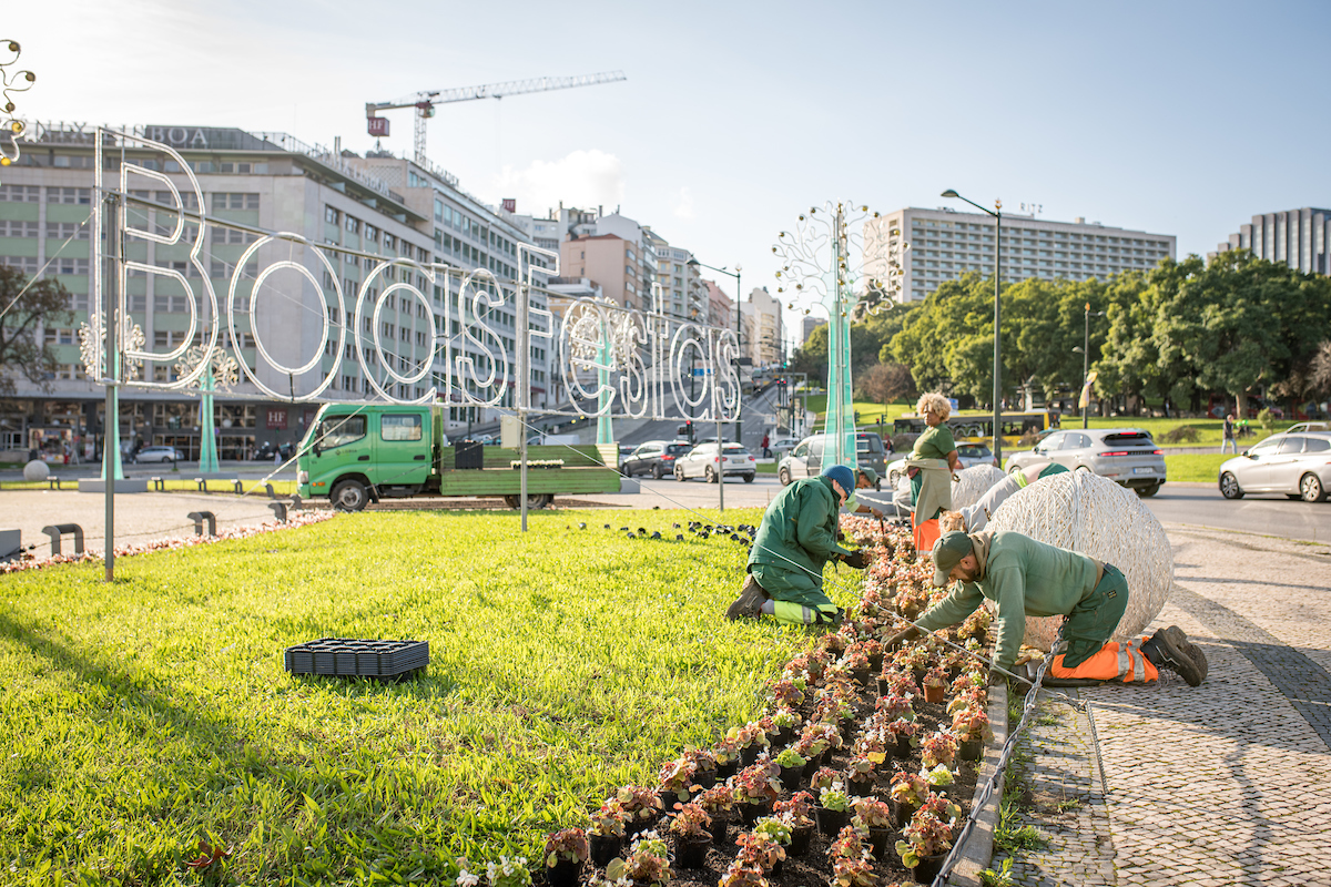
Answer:
MULTIPOLYGON (((884 650, 901 626, 897 616, 917 616, 944 592, 929 585, 932 568, 917 561, 908 533, 856 517, 841 525, 873 553, 862 597, 841 628, 787 662, 759 719, 667 762, 658 786, 626 786, 607 798, 588 832, 600 852, 566 883, 868 887, 933 879, 930 867, 969 814, 977 741, 982 747, 992 738, 985 670, 940 637, 884 650), (925 688, 937 701, 926 701, 925 688), (663 848, 673 863, 660 864, 663 848)), ((976 618, 948 640, 980 653, 988 634, 976 618)))

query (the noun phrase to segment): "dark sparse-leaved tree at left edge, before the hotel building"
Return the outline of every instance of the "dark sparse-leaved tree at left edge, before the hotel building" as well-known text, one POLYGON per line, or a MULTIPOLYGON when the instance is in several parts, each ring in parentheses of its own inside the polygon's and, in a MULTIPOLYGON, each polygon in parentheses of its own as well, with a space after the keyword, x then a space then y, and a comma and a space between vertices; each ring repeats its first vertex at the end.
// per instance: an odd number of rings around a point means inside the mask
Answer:
POLYGON ((0 394, 13 394, 19 375, 48 388, 56 355, 39 334, 71 322, 69 290, 53 278, 29 283, 19 269, 0 265, 0 394))

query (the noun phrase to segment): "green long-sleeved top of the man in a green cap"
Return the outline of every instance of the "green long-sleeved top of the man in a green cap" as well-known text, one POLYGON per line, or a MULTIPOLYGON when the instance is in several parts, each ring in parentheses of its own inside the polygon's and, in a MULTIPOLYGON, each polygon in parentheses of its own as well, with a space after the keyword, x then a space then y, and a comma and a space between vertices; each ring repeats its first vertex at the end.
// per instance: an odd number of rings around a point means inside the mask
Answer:
POLYGON ((1028 616, 1066 616, 1095 588, 1099 565, 1086 555, 1021 533, 994 533, 980 578, 952 589, 916 620, 934 632, 956 625, 989 598, 998 604, 994 665, 1010 669, 1026 636, 1028 616))

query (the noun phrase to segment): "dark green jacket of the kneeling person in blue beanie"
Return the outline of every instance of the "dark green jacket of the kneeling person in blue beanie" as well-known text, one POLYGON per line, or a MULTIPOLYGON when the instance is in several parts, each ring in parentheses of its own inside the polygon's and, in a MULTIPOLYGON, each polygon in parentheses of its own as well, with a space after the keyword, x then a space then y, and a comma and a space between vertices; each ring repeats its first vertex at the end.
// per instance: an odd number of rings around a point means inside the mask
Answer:
POLYGON ((803 568, 821 588, 823 567, 836 555, 851 553, 836 544, 839 501, 827 477, 791 483, 767 507, 748 563, 803 568))

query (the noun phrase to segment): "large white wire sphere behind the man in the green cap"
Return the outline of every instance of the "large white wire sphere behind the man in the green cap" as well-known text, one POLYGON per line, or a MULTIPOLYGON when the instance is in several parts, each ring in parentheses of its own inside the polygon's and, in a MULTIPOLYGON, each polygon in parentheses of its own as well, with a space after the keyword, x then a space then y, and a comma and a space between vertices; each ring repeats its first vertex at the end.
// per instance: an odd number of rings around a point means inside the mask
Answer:
MULTIPOLYGON (((1141 634, 1174 585, 1174 553, 1165 528, 1137 493, 1089 471, 1051 475, 1009 496, 989 531, 1018 532, 1113 564, 1127 578, 1127 610, 1113 640, 1141 634)), ((1026 617, 1026 644, 1049 652, 1061 616, 1026 617)))

